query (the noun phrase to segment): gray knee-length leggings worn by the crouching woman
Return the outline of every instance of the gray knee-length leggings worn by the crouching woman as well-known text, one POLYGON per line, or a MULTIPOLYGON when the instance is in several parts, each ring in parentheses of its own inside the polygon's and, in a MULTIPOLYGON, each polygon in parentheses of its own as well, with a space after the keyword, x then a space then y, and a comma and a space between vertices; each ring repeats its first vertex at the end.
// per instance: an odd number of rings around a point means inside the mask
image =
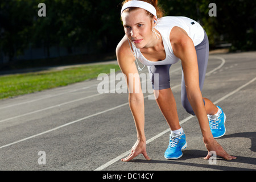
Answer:
MULTIPOLYGON (((202 90, 204 85, 205 73, 207 71, 208 57, 209 57, 209 41, 208 41, 208 36, 206 32, 204 34, 204 40, 195 48, 196 48, 197 63, 199 68, 199 86, 200 86, 200 90, 202 90)), ((151 73, 150 75, 151 75, 152 89, 162 90, 162 89, 170 88, 170 73, 169 73, 170 67, 171 67, 171 64, 148 66, 148 71, 151 73), (159 73, 158 87, 154 85, 154 73, 159 73)), ((191 107, 191 104, 188 101, 183 71, 182 71, 182 78, 181 78, 181 102, 184 109, 188 113, 195 115, 191 107)), ((205 104, 205 101, 204 101, 204 104, 205 104)))

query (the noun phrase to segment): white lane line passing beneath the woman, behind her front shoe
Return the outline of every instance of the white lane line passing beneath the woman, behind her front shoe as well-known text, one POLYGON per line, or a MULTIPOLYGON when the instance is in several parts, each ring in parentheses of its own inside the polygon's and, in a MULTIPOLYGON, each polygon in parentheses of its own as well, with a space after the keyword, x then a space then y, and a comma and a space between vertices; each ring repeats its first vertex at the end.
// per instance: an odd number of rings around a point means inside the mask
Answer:
MULTIPOLYGON (((243 89, 245 86, 251 84, 251 83, 254 82, 255 80, 256 80, 256 77, 253 78, 253 80, 250 80, 249 82, 247 82, 246 84, 240 86, 239 88, 237 88, 237 89, 234 90, 233 92, 230 92, 229 94, 226 94, 224 97, 221 97, 221 98, 218 99, 217 101, 213 102, 213 104, 215 105, 215 104, 217 104, 218 102, 225 100, 226 98, 232 96, 234 93, 237 93, 238 91, 240 91, 241 89, 243 89)), ((194 116, 191 115, 191 116, 189 116, 189 117, 183 119, 182 121, 180 121, 180 125, 183 124, 183 123, 185 123, 185 122, 187 122, 189 119, 191 119, 191 118, 193 118, 193 117, 194 117, 194 116)), ((148 139, 148 140, 146 141, 146 143, 148 144, 148 143, 154 141, 156 138, 161 137, 162 135, 166 134, 166 133, 169 132, 169 131, 170 131, 170 129, 164 130, 162 133, 159 133, 158 135, 155 135, 155 137, 152 137, 152 138, 148 139)), ((111 164, 117 162, 118 160, 121 160, 122 158, 124 158, 125 156, 127 156, 128 154, 130 154, 130 152, 131 152, 131 150, 124 152, 123 154, 117 156, 117 157, 114 158, 113 160, 110 160, 109 162, 107 162, 107 163, 103 164, 102 166, 98 167, 97 169, 94 169, 94 171, 101 171, 102 169, 105 169, 106 167, 110 166, 111 164)))

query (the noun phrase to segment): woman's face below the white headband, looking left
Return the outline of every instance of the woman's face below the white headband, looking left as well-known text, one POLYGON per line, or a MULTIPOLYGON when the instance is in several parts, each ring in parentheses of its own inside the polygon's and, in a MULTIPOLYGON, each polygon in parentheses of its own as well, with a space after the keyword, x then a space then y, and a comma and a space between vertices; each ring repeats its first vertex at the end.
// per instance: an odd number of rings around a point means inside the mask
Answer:
POLYGON ((123 27, 128 39, 136 48, 147 47, 152 38, 152 20, 143 9, 122 13, 123 27))

